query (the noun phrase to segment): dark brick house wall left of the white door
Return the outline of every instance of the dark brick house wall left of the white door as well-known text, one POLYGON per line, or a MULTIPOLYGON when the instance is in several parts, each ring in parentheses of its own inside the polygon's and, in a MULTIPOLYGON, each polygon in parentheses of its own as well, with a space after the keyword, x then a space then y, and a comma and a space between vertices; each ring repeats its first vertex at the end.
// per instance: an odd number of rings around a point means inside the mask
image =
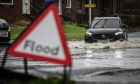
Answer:
POLYGON ((4 18, 12 22, 21 14, 21 0, 0 0, 0 18, 4 18))

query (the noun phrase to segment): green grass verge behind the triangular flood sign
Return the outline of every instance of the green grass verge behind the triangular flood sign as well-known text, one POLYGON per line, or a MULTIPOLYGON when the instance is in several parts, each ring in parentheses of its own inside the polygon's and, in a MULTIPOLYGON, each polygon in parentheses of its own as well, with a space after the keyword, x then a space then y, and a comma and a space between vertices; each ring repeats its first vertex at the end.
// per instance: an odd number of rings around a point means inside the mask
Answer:
MULTIPOLYGON (((64 32, 67 40, 82 40, 86 29, 76 24, 64 24, 64 32)), ((11 39, 16 39, 26 26, 11 27, 11 39)))

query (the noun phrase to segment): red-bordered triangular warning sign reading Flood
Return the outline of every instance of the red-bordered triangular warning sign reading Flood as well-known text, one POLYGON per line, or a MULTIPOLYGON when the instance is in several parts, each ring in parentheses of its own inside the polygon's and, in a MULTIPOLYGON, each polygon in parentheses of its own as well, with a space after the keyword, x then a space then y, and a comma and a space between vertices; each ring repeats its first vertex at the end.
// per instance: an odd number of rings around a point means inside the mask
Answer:
POLYGON ((71 63, 60 18, 54 4, 46 8, 11 45, 8 54, 64 65, 71 63))

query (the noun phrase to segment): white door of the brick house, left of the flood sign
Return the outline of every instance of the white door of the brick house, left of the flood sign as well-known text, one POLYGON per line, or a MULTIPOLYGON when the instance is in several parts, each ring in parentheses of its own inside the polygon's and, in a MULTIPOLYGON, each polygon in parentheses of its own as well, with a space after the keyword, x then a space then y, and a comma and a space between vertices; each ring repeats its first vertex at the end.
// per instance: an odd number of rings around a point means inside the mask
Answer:
POLYGON ((22 13, 30 14, 30 0, 22 0, 22 13))

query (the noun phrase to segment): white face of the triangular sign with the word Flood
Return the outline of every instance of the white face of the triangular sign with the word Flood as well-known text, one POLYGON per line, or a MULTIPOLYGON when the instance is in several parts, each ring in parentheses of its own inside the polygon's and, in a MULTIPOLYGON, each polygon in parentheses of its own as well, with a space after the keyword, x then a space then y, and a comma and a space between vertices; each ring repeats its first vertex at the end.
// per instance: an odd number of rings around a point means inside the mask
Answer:
POLYGON ((52 11, 16 48, 17 52, 64 60, 64 52, 52 11))

